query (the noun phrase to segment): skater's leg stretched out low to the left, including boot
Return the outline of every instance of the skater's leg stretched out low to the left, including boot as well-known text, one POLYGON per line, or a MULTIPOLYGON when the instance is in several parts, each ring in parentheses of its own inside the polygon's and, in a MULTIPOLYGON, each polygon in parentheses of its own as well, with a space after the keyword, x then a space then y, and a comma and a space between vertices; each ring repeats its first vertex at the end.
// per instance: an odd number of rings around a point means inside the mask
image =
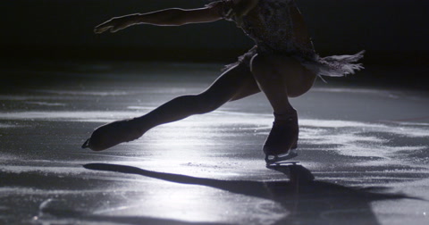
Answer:
POLYGON ((206 91, 179 96, 152 112, 126 121, 114 121, 97 128, 82 147, 101 151, 141 137, 158 125, 179 121, 193 114, 212 112, 224 103, 259 92, 248 66, 239 64, 225 71, 206 91))

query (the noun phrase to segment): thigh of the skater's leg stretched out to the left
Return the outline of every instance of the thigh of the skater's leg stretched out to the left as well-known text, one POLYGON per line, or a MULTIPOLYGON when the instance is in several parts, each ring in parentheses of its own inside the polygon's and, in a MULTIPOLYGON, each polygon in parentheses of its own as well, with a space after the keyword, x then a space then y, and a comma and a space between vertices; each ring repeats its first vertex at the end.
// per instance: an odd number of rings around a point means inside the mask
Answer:
POLYGON ((257 87, 257 82, 250 69, 246 64, 240 63, 223 72, 201 95, 223 99, 223 101, 227 102, 251 96, 258 92, 260 92, 259 87, 257 87))

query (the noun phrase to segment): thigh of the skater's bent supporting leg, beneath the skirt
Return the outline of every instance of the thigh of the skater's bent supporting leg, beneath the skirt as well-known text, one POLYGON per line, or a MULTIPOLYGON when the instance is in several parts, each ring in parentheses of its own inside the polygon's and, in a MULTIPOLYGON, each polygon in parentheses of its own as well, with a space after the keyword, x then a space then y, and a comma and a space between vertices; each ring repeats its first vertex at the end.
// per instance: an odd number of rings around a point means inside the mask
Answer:
POLYGON ((315 82, 316 75, 313 71, 287 55, 257 54, 252 58, 251 65, 258 82, 273 83, 274 88, 287 88, 290 97, 303 95, 315 82))

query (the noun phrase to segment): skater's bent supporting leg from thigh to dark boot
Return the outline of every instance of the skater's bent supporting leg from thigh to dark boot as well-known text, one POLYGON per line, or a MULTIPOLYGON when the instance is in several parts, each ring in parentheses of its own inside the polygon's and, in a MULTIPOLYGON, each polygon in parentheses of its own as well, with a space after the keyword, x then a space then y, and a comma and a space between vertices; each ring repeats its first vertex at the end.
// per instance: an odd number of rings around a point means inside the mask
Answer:
POLYGON ((273 106, 275 117, 263 150, 267 155, 288 154, 296 148, 299 135, 298 115, 289 97, 306 93, 314 83, 315 74, 295 59, 275 54, 257 54, 251 70, 273 106))

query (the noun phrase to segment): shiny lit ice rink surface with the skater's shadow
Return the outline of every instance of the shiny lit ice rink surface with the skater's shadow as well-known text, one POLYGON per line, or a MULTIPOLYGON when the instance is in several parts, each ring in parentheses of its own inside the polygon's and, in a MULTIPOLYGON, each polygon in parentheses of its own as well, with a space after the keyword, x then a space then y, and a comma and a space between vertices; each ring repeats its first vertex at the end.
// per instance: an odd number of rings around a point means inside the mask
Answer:
POLYGON ((429 224, 425 90, 319 79, 291 100, 300 163, 282 171, 265 168, 262 94, 104 152, 80 148, 101 124, 203 91, 220 68, 4 69, 0 224, 429 224))

